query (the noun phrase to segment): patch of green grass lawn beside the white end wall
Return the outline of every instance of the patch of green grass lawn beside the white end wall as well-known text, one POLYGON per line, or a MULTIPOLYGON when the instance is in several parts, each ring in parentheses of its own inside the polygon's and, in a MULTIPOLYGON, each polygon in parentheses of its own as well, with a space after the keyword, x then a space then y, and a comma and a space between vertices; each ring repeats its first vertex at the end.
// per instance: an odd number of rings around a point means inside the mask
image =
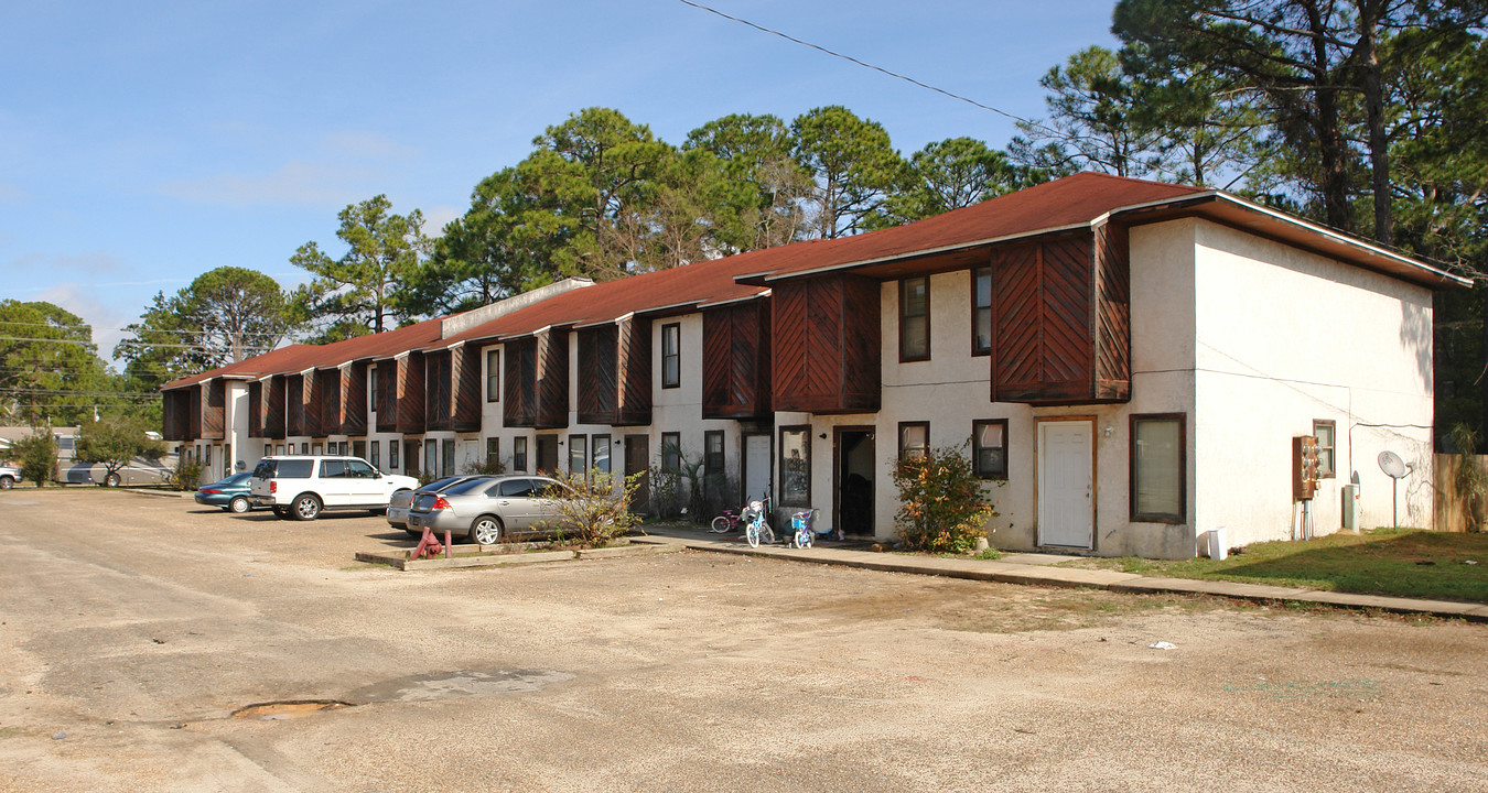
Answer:
POLYGON ((1077 559, 1062 567, 1097 567, 1143 576, 1305 586, 1329 592, 1488 603, 1488 534, 1414 528, 1338 533, 1315 540, 1247 545, 1244 553, 1214 559, 1077 559), (1467 564, 1475 561, 1478 564, 1467 564))

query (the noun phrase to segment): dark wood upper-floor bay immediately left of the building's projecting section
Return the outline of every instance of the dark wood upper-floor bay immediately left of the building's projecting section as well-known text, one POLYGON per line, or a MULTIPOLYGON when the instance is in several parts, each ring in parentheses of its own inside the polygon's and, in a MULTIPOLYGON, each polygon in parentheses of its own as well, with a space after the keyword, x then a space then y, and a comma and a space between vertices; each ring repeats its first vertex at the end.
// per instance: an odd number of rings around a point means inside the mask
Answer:
POLYGON ((769 412, 766 301, 702 312, 702 418, 759 418, 769 412))

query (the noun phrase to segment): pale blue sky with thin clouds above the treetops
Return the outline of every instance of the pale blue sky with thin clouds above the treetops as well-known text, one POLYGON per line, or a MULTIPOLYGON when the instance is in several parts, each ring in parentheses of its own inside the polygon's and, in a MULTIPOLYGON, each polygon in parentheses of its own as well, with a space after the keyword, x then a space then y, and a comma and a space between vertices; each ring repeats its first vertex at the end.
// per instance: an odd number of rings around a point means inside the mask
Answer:
MULTIPOLYGON (((1113 0, 707 0, 1019 116, 1113 46, 1113 0)), ((0 299, 51 301, 107 359, 156 292, 223 265, 292 286, 307 241, 385 193, 437 232, 545 126, 615 107, 670 143, 729 113, 842 104, 906 156, 1004 116, 677 0, 6 3, 0 299)))

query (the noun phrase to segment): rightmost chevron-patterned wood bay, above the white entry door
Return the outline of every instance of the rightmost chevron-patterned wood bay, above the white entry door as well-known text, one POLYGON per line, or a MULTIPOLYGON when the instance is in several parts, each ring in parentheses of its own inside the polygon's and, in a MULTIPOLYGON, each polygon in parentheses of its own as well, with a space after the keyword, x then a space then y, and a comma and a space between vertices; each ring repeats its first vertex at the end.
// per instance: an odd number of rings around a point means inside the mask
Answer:
MULTIPOLYGON (((1110 244, 1123 247, 1123 240, 1110 244)), ((992 251, 992 402, 1126 399, 1129 287, 1119 263, 1125 254, 1103 269, 1100 248, 1085 232, 992 251), (1115 375, 1109 387, 1098 387, 1098 367, 1115 375)))

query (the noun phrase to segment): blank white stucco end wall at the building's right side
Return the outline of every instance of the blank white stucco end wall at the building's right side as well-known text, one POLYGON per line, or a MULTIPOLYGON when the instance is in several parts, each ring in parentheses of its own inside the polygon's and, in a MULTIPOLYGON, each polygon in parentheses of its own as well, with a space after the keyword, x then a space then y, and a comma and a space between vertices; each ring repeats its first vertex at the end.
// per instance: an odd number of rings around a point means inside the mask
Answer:
POLYGON ((1290 437, 1336 426, 1335 479, 1314 498, 1320 534, 1341 527, 1341 487, 1362 482, 1363 528, 1390 525, 1390 449, 1412 464, 1400 522, 1431 522, 1431 293, 1208 222, 1195 238, 1198 494, 1202 531, 1232 542, 1292 536, 1290 437), (1372 427, 1390 424, 1391 427, 1372 427), (1237 487, 1240 485, 1240 487, 1237 487))

